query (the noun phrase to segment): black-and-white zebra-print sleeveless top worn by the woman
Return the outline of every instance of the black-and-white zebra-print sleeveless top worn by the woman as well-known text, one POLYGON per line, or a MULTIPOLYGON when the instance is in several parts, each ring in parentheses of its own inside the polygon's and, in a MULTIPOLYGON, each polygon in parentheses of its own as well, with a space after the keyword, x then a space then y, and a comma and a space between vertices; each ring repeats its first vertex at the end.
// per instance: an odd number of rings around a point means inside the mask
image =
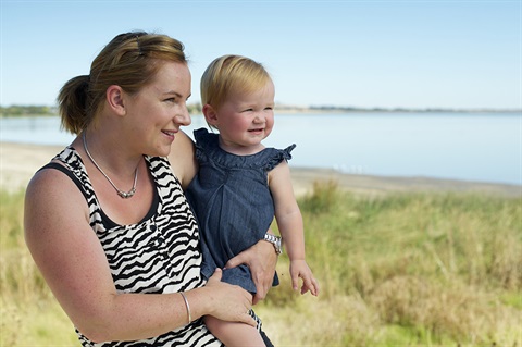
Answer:
MULTIPOLYGON (((119 225, 100 208, 84 163, 72 147, 42 169, 69 175, 85 196, 90 226, 105 251, 117 293, 176 293, 201 287, 198 225, 165 158, 145 157, 156 182, 149 213, 137 224, 119 225)), ((199 319, 161 336, 138 342, 92 343, 76 330, 83 346, 223 346, 199 319)))

